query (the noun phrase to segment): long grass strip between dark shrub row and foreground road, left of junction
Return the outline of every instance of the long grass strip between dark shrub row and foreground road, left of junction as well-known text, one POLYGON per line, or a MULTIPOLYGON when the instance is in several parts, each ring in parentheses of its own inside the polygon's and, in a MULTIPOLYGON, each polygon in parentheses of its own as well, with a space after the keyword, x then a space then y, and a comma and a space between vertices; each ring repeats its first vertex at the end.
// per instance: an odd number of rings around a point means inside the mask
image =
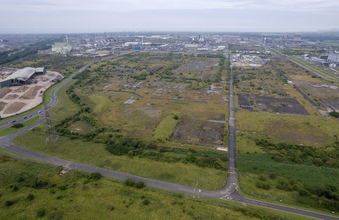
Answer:
POLYGON ((226 172, 202 168, 194 164, 157 162, 146 158, 115 156, 104 144, 82 142, 61 137, 58 147, 45 147, 43 132, 29 131, 14 140, 15 144, 51 156, 117 170, 152 179, 194 187, 197 180, 202 189, 216 190, 226 184, 226 172), (27 139, 30 141, 27 142, 27 139))

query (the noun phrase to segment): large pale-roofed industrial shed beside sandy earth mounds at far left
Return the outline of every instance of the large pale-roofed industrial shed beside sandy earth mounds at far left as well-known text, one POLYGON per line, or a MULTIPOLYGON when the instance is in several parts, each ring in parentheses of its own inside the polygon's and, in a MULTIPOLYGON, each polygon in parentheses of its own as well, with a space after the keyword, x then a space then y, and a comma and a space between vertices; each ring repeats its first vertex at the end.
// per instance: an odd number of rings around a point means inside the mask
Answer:
POLYGON ((14 72, 12 75, 0 81, 0 88, 32 83, 32 77, 46 74, 45 67, 32 68, 26 67, 14 72))

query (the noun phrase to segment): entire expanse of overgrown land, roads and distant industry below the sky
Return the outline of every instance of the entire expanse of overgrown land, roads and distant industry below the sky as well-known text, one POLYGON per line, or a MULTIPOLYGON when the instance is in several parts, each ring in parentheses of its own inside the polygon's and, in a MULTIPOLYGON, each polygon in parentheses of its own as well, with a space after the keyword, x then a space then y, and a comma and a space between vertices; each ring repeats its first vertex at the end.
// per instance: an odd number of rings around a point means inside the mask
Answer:
POLYGON ((339 218, 338 33, 0 39, 1 219, 339 218))

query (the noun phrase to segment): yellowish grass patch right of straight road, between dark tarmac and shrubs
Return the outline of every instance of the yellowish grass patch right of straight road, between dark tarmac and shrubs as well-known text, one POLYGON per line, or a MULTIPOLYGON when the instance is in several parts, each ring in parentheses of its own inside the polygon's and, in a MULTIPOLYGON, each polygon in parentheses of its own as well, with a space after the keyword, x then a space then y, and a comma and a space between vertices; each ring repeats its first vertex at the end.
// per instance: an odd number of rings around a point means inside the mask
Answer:
POLYGON ((335 141, 338 122, 324 117, 292 116, 271 113, 236 112, 236 127, 243 132, 266 134, 276 141, 323 145, 335 141))

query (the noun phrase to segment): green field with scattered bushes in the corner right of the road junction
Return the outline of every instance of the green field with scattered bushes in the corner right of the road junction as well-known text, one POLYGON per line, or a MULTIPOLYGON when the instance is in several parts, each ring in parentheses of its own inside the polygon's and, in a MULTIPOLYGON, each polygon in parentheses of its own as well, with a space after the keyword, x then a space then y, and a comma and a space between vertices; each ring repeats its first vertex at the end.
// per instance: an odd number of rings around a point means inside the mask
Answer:
POLYGON ((313 164, 296 164, 291 161, 279 163, 271 159, 271 156, 263 153, 238 154, 238 171, 241 192, 247 197, 278 202, 284 205, 288 204, 325 214, 330 214, 330 211, 317 207, 317 204, 299 202, 300 196, 297 188, 329 184, 339 186, 337 181, 339 169, 324 166, 316 167, 313 164), (275 173, 276 178, 271 179, 270 173, 275 173), (262 177, 265 179, 264 182, 261 179, 262 177), (291 179, 296 180, 294 185, 290 185, 291 179), (277 188, 282 181, 287 183, 291 190, 286 191, 277 188), (268 184, 270 189, 258 188, 256 186, 258 182, 268 184))

